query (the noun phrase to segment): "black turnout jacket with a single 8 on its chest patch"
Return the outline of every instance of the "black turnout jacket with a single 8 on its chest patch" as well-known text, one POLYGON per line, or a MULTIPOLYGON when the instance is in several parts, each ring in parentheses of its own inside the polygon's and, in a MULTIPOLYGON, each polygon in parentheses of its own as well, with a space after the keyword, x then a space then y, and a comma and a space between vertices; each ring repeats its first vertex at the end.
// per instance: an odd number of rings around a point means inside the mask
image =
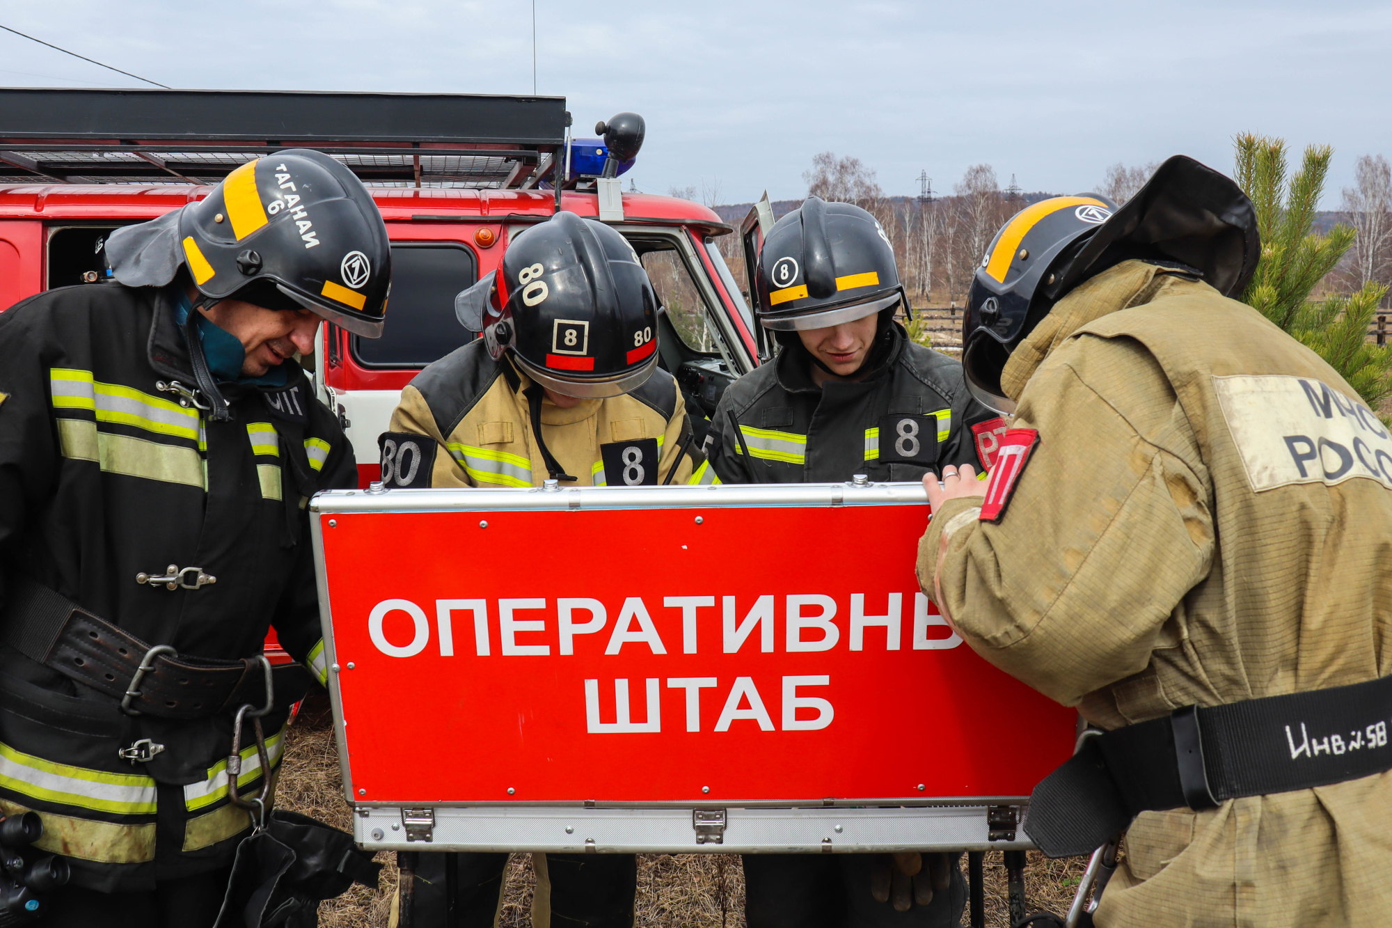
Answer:
POLYGON ((995 412, 967 393, 962 365, 909 341, 898 323, 883 337, 888 350, 857 382, 818 387, 807 353, 793 346, 732 383, 706 443, 721 482, 917 481, 945 464, 981 468, 970 426, 995 412))

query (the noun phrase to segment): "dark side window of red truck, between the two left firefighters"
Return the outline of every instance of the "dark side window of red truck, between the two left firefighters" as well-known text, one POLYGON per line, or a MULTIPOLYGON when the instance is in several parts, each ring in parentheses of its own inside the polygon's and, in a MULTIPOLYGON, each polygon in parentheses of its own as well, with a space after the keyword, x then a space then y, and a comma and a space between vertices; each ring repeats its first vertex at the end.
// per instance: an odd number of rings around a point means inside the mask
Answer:
POLYGON ((423 368, 479 333, 454 318, 454 297, 479 279, 473 252, 448 242, 391 245, 391 295, 380 339, 352 337, 365 368, 423 368))

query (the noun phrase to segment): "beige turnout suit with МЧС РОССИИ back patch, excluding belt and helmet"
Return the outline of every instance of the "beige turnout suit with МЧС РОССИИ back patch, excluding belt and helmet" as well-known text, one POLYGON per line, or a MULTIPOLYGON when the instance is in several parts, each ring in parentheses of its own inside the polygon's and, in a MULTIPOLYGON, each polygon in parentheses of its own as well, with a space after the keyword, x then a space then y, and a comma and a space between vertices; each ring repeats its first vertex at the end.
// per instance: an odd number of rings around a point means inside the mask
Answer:
MULTIPOLYGON (((1002 383, 1040 433, 1005 516, 952 500, 919 549, 981 656, 1104 729, 1388 673, 1392 439, 1314 353, 1129 261, 1062 300, 1002 383)), ((1141 812, 1097 924, 1389 913, 1384 773, 1141 812)))

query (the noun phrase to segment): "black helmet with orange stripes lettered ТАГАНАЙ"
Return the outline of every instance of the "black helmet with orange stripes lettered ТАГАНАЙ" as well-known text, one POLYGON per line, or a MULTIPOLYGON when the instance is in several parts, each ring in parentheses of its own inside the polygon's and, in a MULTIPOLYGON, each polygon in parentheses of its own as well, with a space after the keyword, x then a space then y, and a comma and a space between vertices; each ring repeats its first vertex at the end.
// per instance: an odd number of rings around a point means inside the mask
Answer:
POLYGON ((205 199, 118 229, 106 255, 127 286, 164 286, 184 265, 200 302, 312 309, 369 339, 381 334, 391 287, 372 194, 340 162, 301 148, 246 162, 205 199))

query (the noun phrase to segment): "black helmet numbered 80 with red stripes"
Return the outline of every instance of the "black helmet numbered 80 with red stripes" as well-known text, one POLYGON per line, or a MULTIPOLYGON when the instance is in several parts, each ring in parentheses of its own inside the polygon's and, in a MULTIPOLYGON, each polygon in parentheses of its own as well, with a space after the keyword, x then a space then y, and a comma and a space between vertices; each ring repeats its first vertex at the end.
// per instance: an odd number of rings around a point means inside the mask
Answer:
POLYGON ((657 297, 638 252, 575 213, 521 233, 503 266, 454 305, 494 358, 511 350, 529 378, 564 396, 621 396, 657 369, 657 297))

